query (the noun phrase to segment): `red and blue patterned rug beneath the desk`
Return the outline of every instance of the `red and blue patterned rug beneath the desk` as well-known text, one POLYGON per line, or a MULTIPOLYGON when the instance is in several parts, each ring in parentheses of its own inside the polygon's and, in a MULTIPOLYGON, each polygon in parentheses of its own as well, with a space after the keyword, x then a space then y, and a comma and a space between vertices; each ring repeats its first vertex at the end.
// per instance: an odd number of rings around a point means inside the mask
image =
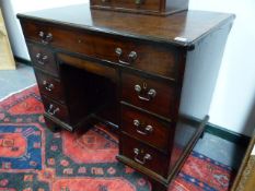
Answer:
MULTIPOLYGON (((104 127, 85 134, 51 133, 37 86, 0 103, 0 191, 149 191, 118 163, 118 142, 104 127)), ((224 191, 231 169, 193 152, 170 191, 224 191)))

